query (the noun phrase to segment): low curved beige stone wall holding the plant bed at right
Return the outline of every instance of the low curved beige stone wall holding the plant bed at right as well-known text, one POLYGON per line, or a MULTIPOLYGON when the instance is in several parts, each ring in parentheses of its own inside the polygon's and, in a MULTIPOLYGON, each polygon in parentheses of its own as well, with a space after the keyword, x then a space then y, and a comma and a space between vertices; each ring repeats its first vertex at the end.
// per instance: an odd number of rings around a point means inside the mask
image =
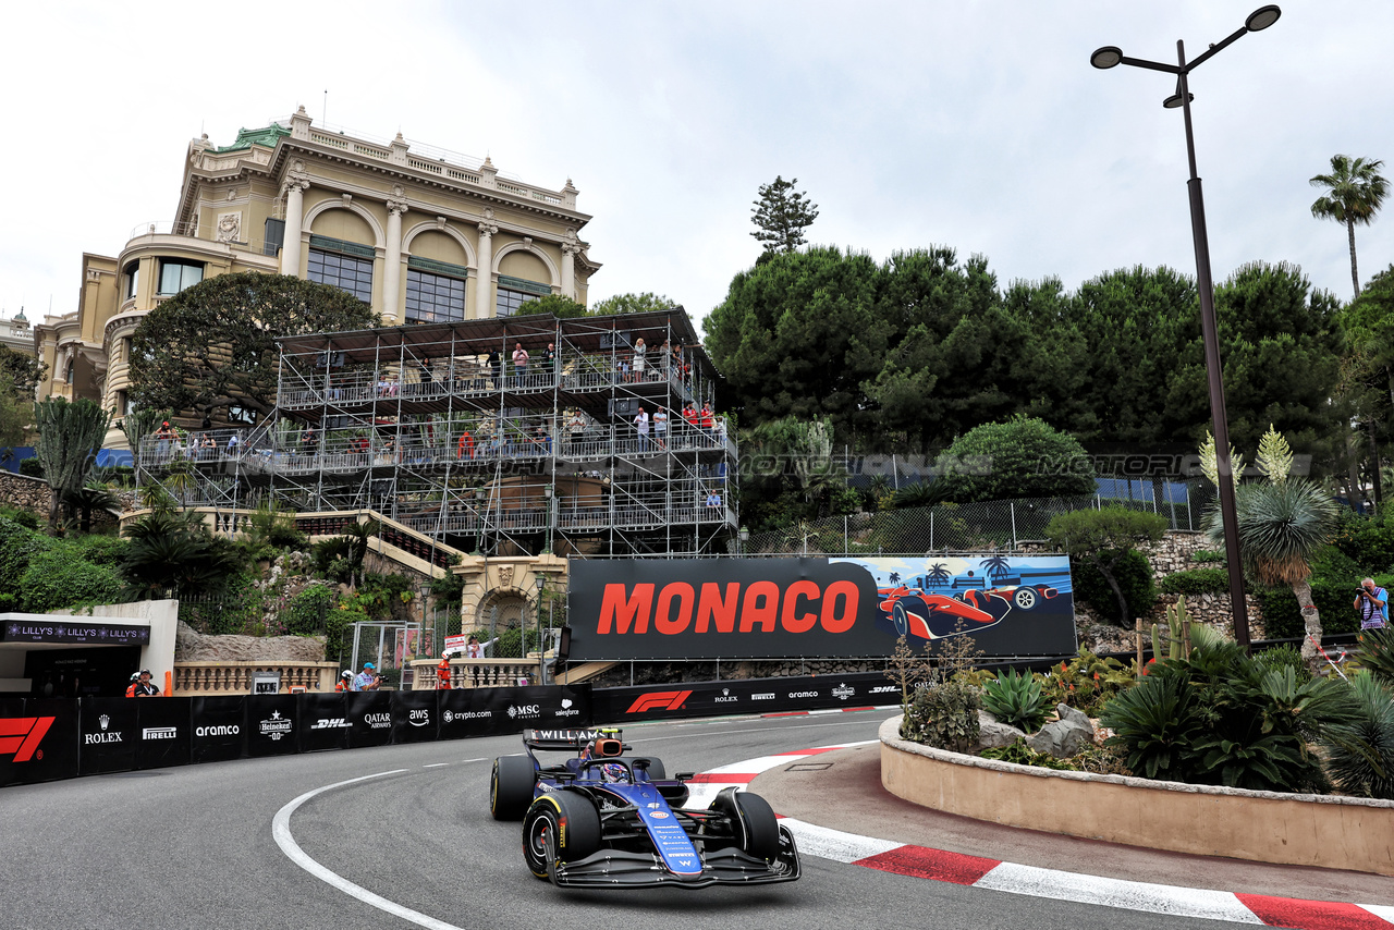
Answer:
POLYGON ((1195 856, 1394 876, 1394 802, 1054 771, 931 749, 881 724, 892 795, 1008 827, 1195 856))

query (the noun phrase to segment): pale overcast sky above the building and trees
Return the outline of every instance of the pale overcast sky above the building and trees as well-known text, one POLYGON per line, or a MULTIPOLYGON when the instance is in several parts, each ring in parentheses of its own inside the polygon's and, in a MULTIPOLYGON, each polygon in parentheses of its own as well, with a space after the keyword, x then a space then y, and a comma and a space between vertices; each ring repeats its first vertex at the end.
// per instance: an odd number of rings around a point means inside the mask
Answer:
MULTIPOLYGON (((0 317, 77 310, 81 254, 174 212, 188 141, 297 105, 322 121, 572 177, 604 268, 704 317, 760 252, 760 184, 797 177, 813 243, 980 252, 1001 284, 1195 272, 1165 74, 1262 0, 209 3, 7 8, 0 317)), ((1394 3, 1288 0, 1192 75, 1213 268, 1264 259, 1351 297, 1345 230, 1310 215, 1331 155, 1394 165, 1394 3)), ((1386 169, 1394 177, 1394 169, 1386 169)), ((1394 204, 1356 230, 1394 261, 1394 204)))

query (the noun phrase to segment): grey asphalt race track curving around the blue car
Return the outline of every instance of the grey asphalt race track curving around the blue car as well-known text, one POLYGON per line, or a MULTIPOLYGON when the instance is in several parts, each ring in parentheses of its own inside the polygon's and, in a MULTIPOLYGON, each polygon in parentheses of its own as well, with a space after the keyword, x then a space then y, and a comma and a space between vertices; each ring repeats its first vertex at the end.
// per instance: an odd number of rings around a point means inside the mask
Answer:
MULTIPOLYGON (((647 724, 627 729, 626 742, 661 757, 669 772, 704 771, 870 740, 884 718, 868 711, 647 724)), ((0 866, 3 923, 99 930, 1234 926, 923 881, 814 856, 804 856, 800 881, 765 888, 560 891, 528 874, 519 824, 488 813, 493 757, 520 750, 519 736, 499 736, 0 789, 10 845, 0 866), (355 897, 354 887, 382 906, 355 897)))

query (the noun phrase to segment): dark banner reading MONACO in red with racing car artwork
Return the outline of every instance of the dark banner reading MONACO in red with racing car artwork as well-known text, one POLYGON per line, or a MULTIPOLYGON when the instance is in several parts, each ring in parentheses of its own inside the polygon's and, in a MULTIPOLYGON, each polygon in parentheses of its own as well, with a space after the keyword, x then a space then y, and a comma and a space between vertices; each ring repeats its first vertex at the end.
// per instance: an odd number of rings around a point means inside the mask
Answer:
POLYGON ((901 636, 1076 648, 1064 555, 573 559, 567 613, 572 662, 884 657, 901 636))

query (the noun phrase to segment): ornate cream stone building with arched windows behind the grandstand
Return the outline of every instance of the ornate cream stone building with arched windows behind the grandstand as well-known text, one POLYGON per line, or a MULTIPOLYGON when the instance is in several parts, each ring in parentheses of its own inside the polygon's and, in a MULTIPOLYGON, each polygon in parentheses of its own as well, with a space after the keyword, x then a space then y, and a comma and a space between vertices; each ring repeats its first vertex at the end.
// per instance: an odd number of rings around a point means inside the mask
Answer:
MULTIPOLYGON (((131 335, 160 301, 229 272, 296 275, 358 296, 388 325, 506 317, 544 294, 587 300, 599 265, 567 180, 502 177, 485 158, 315 127, 304 107, 188 146, 173 220, 142 223, 114 258, 82 255, 77 308, 46 317, 38 395, 131 409, 131 335)), ((233 422, 254 413, 233 407, 233 422)), ((197 425, 197 424, 191 424, 197 425)), ((106 446, 125 448, 113 428, 106 446)))

